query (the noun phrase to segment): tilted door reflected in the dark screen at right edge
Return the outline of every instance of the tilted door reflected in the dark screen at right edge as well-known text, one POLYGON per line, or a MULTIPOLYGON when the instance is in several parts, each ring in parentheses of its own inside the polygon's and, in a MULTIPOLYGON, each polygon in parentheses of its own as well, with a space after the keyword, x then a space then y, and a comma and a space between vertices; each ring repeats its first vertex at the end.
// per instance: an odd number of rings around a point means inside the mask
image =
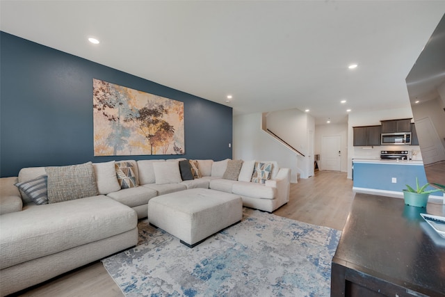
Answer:
POLYGON ((423 163, 427 165, 445 160, 444 147, 431 119, 428 117, 421 118, 416 120, 415 124, 423 163))

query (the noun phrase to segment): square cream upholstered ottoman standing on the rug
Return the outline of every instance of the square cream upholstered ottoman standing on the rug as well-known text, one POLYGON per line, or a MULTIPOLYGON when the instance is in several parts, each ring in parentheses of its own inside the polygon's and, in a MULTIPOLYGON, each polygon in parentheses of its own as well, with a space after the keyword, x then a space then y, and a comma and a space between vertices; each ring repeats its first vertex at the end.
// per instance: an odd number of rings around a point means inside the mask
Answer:
POLYGON ((208 188, 159 195, 148 202, 149 223, 176 236, 189 248, 241 218, 240 196, 208 188))

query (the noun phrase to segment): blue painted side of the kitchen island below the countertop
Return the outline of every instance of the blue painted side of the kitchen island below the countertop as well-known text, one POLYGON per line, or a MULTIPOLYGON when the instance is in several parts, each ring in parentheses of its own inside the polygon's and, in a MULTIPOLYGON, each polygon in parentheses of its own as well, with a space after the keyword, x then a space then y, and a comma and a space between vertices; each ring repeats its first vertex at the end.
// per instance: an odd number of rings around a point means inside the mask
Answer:
MULTIPOLYGON (((370 188, 385 191, 402 192, 409 184, 416 187, 416 177, 419 179, 419 186, 427 183, 426 173, 423 165, 403 165, 394 163, 355 163, 354 162, 354 187, 370 188), (396 177, 397 183, 391 182, 392 177, 396 177)), ((432 187, 428 187, 432 190, 432 187)), ((442 196, 442 192, 431 195, 442 196)))

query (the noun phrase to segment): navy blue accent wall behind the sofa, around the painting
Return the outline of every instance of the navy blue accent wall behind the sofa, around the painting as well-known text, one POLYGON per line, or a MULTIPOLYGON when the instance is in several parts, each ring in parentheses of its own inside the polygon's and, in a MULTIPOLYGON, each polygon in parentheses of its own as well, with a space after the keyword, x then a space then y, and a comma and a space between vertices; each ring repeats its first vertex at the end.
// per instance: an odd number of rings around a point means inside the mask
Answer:
MULTIPOLYGON (((232 158, 232 108, 0 32, 0 173, 124 159, 232 158), (94 156, 92 79, 184 102, 184 155, 94 156)), ((141 65, 140 67, 145 67, 141 65)))

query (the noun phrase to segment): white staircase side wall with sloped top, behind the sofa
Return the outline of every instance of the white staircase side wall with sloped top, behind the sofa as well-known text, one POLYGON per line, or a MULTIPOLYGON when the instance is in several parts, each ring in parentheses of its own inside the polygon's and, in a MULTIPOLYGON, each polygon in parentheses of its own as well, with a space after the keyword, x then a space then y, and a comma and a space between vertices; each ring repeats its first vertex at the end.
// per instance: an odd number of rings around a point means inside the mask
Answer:
POLYGON ((296 182, 296 153, 263 131, 261 118, 261 113, 234 116, 233 159, 277 161, 278 166, 291 169, 291 182, 296 182))

